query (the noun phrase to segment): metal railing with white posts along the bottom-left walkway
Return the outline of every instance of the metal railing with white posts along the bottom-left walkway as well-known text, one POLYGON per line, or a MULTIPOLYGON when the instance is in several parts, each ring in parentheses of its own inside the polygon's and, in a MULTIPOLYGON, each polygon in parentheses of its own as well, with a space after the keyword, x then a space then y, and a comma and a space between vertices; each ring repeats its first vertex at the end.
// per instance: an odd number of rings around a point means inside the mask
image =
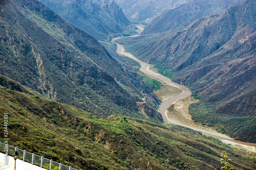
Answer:
MULTIPOLYGON (((58 163, 53 161, 52 159, 44 158, 43 156, 35 155, 34 153, 27 152, 26 150, 18 149, 17 147, 12 147, 9 144, 0 142, 0 152, 6 153, 7 149, 8 155, 12 156, 12 154, 17 151, 18 159, 23 160, 24 162, 31 163, 32 165, 40 166, 41 168, 48 168, 52 170, 53 168, 58 167, 59 170, 78 170, 71 166, 63 165, 62 163, 58 163)), ((81 169, 79 169, 81 170, 81 169)))

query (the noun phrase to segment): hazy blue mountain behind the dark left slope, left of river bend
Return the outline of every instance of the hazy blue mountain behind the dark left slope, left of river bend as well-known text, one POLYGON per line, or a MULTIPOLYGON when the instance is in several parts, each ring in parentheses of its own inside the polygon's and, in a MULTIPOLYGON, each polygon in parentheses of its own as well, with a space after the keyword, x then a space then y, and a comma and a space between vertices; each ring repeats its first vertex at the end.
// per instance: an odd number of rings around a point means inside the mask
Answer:
POLYGON ((112 34, 136 34, 114 0, 40 0, 54 12, 96 39, 105 40, 112 34))

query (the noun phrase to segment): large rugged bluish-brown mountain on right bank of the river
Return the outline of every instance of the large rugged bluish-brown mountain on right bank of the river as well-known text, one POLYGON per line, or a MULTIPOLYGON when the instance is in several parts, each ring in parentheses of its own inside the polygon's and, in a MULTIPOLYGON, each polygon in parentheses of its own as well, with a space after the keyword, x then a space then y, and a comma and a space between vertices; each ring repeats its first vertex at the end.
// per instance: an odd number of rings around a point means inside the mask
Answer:
POLYGON ((132 44, 128 51, 200 96, 205 105, 191 105, 194 119, 256 142, 255 5, 247 1, 175 33, 119 42, 132 44))

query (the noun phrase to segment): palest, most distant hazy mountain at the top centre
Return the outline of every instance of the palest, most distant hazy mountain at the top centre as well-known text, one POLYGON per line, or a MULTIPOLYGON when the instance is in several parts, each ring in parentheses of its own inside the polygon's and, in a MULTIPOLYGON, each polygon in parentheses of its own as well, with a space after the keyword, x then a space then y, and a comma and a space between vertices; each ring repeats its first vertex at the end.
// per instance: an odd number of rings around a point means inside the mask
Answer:
POLYGON ((179 7, 189 0, 116 0, 122 8, 125 16, 131 21, 149 22, 152 18, 164 13, 169 9, 179 7))

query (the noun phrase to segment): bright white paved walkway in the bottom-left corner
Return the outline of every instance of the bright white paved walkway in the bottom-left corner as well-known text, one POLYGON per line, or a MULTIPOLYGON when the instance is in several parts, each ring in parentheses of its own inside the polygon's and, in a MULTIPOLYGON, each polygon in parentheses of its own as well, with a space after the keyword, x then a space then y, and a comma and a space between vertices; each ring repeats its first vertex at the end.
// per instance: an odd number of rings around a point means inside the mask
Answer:
MULTIPOLYGON (((14 170, 14 159, 11 156, 8 156, 8 166, 5 165, 5 154, 0 153, 0 170, 14 170)), ((16 170, 43 170, 39 166, 32 165, 28 162, 23 162, 22 160, 16 160, 16 170)), ((46 169, 45 169, 46 170, 46 169)))

